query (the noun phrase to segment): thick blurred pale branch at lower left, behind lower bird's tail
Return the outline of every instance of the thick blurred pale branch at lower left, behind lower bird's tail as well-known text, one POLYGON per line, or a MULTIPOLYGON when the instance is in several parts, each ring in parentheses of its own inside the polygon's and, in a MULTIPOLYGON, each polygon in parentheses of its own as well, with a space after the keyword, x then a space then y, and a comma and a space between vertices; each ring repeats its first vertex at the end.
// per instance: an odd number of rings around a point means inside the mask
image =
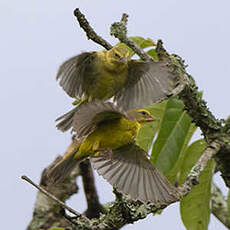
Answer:
MULTIPOLYGON (((71 145, 67 148, 66 154, 74 148, 77 141, 73 141, 71 145)), ((57 157, 57 159, 47 168, 45 168, 41 175, 40 186, 45 190, 49 191, 57 199, 65 202, 73 194, 78 192, 78 186, 76 184, 76 178, 80 175, 79 168, 76 167, 72 173, 60 184, 56 186, 50 186, 47 178, 47 171, 50 167, 55 165, 60 161, 62 157, 57 157)), ((65 210, 63 207, 50 199, 46 194, 42 192, 37 193, 33 218, 27 227, 27 230, 37 230, 37 229, 49 229, 54 223, 59 224, 62 227, 67 227, 70 225, 69 221, 65 218, 65 210)))

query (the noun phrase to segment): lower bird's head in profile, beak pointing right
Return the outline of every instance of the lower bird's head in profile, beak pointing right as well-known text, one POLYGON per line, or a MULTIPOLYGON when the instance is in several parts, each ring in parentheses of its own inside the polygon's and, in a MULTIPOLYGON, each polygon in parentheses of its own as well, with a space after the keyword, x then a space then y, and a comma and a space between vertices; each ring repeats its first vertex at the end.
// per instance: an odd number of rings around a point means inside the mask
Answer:
POLYGON ((155 121, 155 118, 145 109, 129 110, 127 114, 130 120, 136 120, 139 123, 155 121))

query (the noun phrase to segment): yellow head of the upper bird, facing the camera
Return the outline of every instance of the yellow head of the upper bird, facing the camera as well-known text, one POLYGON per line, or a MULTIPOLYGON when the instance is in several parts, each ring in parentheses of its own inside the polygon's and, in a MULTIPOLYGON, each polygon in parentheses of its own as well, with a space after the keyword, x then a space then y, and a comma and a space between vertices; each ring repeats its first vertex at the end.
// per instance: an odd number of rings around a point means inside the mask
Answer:
POLYGON ((112 68, 127 66, 129 51, 122 46, 115 46, 106 52, 107 64, 112 68))

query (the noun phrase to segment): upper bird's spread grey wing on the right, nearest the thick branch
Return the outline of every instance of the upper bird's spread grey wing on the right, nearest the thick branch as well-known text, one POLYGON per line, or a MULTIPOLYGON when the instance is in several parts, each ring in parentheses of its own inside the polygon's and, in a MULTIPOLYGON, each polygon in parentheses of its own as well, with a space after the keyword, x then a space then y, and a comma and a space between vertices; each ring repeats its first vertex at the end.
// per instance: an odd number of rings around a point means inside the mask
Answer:
POLYGON ((167 59, 158 62, 133 60, 129 62, 126 83, 114 100, 124 110, 141 108, 171 96, 179 82, 167 59))

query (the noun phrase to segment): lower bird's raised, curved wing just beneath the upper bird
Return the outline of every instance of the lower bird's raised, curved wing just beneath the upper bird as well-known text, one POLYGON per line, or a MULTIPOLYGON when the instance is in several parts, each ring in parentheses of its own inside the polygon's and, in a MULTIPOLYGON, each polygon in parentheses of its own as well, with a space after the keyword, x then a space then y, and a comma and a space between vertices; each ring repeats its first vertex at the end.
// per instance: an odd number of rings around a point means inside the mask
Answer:
POLYGON ((79 106, 73 117, 73 129, 78 137, 90 134, 104 122, 126 117, 126 113, 113 103, 95 100, 79 106))

